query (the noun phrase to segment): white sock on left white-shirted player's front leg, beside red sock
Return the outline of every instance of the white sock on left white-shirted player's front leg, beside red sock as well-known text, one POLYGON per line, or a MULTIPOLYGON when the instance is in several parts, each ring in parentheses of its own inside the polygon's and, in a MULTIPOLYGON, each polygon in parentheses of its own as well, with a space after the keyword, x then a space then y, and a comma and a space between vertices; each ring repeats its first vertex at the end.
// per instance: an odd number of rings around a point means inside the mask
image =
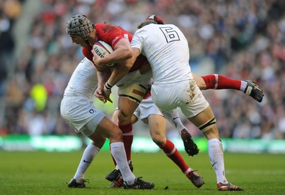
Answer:
POLYGON ((123 142, 114 142, 110 144, 111 153, 115 162, 120 169, 120 173, 123 176, 124 181, 131 185, 135 183, 135 175, 130 171, 128 165, 127 156, 125 154, 125 147, 123 142))

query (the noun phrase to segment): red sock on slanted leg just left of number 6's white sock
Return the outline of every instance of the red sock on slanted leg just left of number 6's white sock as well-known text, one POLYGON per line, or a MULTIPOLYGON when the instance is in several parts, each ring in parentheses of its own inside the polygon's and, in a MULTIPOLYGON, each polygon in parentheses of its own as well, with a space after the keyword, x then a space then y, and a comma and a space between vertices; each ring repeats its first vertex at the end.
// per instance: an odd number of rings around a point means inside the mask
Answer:
POLYGON ((186 172, 189 166, 186 164, 184 159, 181 157, 181 154, 178 152, 175 145, 170 142, 170 140, 167 139, 164 146, 160 148, 163 150, 163 152, 165 152, 168 158, 172 159, 172 162, 177 164, 182 172, 186 172))

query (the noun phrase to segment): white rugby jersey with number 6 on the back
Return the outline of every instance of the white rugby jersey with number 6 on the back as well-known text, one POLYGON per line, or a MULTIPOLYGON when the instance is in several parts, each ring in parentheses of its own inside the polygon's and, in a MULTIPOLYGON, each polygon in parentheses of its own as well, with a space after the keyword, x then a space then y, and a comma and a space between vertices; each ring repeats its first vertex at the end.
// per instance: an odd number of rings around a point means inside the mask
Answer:
POLYGON ((154 84, 177 83, 192 77, 187 39, 172 24, 149 24, 135 32, 133 48, 147 57, 154 84))

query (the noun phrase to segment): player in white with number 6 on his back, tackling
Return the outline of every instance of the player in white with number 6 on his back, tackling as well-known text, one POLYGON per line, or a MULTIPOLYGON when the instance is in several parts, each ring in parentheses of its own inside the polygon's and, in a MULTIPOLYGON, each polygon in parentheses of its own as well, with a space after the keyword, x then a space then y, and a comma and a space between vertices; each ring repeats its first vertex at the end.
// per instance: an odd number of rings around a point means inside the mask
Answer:
MULTIPOLYGON (((138 26, 131 46, 133 63, 142 53, 152 68, 152 100, 160 110, 180 107, 190 122, 208 139, 209 159, 214 167, 219 191, 242 191, 227 181, 222 142, 211 107, 199 90, 189 65, 187 39, 177 26, 147 20, 138 26)), ((108 82, 114 83, 113 80, 108 82)))

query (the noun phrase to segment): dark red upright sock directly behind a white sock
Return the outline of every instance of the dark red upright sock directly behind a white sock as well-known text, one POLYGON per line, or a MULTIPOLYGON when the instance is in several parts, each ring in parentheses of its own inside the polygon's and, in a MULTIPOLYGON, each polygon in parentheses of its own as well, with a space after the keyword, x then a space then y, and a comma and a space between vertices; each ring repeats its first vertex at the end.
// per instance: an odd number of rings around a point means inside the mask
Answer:
POLYGON ((120 130, 123 132, 123 142, 125 145, 125 154, 127 155, 127 160, 130 160, 131 147, 133 144, 133 126, 130 122, 128 125, 120 125, 120 130))

